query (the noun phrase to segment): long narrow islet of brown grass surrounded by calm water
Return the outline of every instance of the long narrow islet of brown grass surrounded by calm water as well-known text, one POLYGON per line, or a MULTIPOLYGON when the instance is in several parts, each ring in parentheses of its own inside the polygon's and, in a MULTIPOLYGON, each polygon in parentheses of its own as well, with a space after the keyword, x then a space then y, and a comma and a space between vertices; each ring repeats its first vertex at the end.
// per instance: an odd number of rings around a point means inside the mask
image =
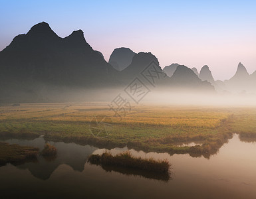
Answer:
POLYGON ((149 172, 168 173, 170 164, 168 161, 156 161, 154 159, 142 159, 133 157, 130 151, 118 155, 111 155, 106 152, 102 155, 90 155, 88 162, 96 165, 122 166, 126 168, 138 168, 149 172))

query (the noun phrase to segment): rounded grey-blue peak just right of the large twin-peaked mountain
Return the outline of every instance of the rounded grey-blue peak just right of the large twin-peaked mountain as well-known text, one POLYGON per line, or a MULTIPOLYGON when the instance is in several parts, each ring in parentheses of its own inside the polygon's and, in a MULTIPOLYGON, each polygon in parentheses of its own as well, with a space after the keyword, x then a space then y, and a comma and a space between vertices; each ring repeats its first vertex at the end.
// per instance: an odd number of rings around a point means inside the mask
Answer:
POLYGON ((130 48, 116 48, 110 55, 108 63, 116 70, 121 71, 132 63, 135 54, 130 48))

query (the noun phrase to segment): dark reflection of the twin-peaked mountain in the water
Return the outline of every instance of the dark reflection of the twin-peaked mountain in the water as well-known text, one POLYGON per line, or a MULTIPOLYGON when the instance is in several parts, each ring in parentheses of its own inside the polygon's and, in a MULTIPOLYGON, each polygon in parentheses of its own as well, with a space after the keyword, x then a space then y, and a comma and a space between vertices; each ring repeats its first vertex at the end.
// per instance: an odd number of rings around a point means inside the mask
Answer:
MULTIPOLYGON (((19 140, 19 139, 9 139, 5 142, 10 144, 18 144, 23 146, 33 146, 39 147, 43 150, 45 145, 45 139, 39 137, 34 140, 19 140)), ((23 165, 17 166, 17 168, 28 169, 33 176, 40 178, 42 180, 47 180, 50 178, 51 174, 60 165, 69 165, 74 170, 82 172, 84 170, 84 164, 86 163, 87 157, 93 153, 97 148, 91 146, 80 146, 74 143, 54 143, 49 142, 57 148, 57 157, 54 160, 44 159, 38 156, 37 163, 25 163, 23 165)))

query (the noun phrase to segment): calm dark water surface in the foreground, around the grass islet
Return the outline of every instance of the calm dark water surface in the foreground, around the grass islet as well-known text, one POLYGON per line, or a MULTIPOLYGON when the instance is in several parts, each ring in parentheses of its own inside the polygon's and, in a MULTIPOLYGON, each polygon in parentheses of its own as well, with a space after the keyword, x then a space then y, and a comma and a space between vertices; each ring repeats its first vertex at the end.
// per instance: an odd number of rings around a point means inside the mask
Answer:
MULTIPOLYGON (((5 142, 45 145, 43 137, 5 142)), ((241 142, 238 135, 210 159, 131 150, 135 156, 168 159, 169 180, 86 163, 90 154, 105 149, 50 143, 58 149, 53 161, 39 157, 37 163, 0 167, 0 198, 256 198, 256 145, 241 142)))

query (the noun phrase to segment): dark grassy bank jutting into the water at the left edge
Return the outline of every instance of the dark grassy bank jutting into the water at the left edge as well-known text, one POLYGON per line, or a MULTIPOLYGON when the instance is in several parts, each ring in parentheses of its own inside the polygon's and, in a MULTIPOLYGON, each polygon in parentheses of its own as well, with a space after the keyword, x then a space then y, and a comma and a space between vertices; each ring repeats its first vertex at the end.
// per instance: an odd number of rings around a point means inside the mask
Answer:
POLYGON ((0 165, 6 163, 19 164, 29 160, 36 160, 39 149, 0 143, 0 165))

